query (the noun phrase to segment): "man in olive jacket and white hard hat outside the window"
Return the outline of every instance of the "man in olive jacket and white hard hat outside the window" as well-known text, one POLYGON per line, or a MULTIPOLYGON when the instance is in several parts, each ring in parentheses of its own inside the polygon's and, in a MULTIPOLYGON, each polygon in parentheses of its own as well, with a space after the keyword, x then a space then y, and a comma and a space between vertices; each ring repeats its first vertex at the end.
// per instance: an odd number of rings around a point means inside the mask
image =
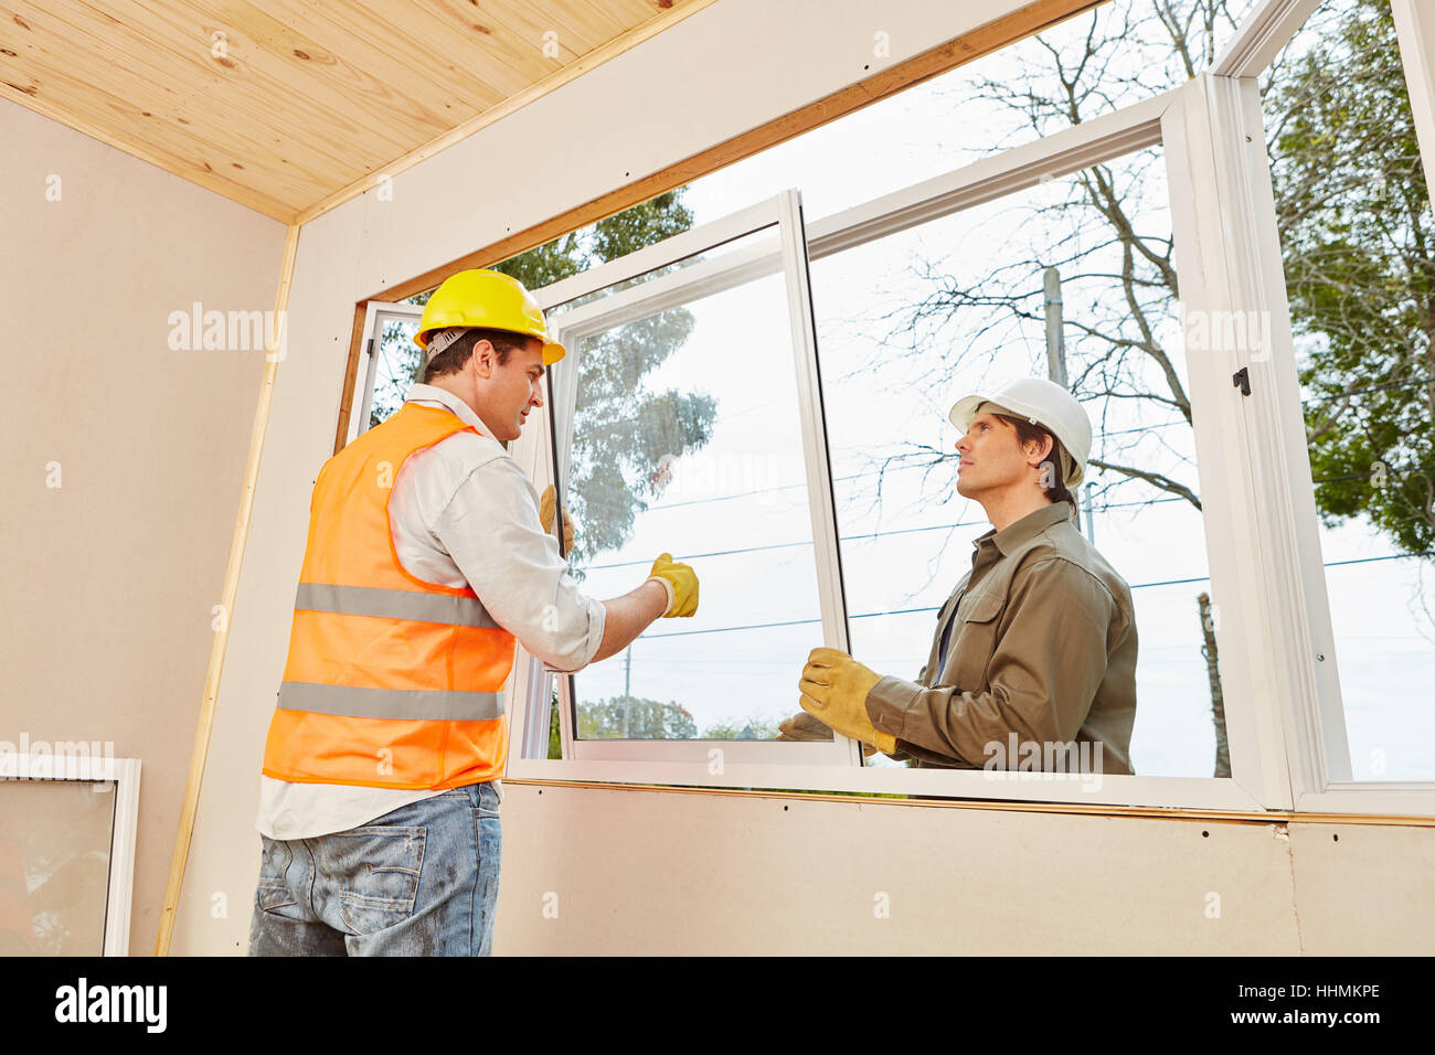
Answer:
POLYGON ((951 408, 957 491, 992 530, 937 616, 916 682, 814 649, 804 713, 782 739, 837 729, 914 765, 1131 774, 1131 590, 1076 528, 1091 421, 1066 389, 1022 378, 951 408))

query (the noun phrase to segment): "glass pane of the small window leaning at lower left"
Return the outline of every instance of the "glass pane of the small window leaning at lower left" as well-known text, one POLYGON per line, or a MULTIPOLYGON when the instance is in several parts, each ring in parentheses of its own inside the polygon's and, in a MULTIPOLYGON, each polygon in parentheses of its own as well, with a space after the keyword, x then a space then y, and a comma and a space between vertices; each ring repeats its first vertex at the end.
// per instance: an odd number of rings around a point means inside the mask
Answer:
POLYGON ((103 955, 115 785, 0 781, 0 955, 103 955))

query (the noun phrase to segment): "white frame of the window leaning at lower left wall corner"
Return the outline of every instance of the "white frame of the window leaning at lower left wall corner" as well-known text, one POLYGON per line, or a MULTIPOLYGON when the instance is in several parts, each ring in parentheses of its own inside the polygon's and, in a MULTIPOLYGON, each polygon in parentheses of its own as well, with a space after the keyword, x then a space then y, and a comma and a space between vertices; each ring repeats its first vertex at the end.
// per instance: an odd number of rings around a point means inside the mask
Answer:
POLYGON ((105 884, 103 956, 129 956, 129 916, 135 888, 135 838, 139 831, 139 759, 70 754, 0 754, 0 781, 73 781, 112 784, 115 820, 105 884))

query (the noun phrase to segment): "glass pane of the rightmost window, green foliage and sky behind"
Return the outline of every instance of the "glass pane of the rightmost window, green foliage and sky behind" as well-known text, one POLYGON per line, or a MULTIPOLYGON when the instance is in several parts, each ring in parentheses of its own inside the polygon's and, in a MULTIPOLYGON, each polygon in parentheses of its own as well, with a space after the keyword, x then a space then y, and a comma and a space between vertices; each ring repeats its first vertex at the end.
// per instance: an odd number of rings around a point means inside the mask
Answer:
POLYGON ((1435 779, 1435 217, 1389 3, 1323 3, 1263 108, 1352 777, 1435 779))

